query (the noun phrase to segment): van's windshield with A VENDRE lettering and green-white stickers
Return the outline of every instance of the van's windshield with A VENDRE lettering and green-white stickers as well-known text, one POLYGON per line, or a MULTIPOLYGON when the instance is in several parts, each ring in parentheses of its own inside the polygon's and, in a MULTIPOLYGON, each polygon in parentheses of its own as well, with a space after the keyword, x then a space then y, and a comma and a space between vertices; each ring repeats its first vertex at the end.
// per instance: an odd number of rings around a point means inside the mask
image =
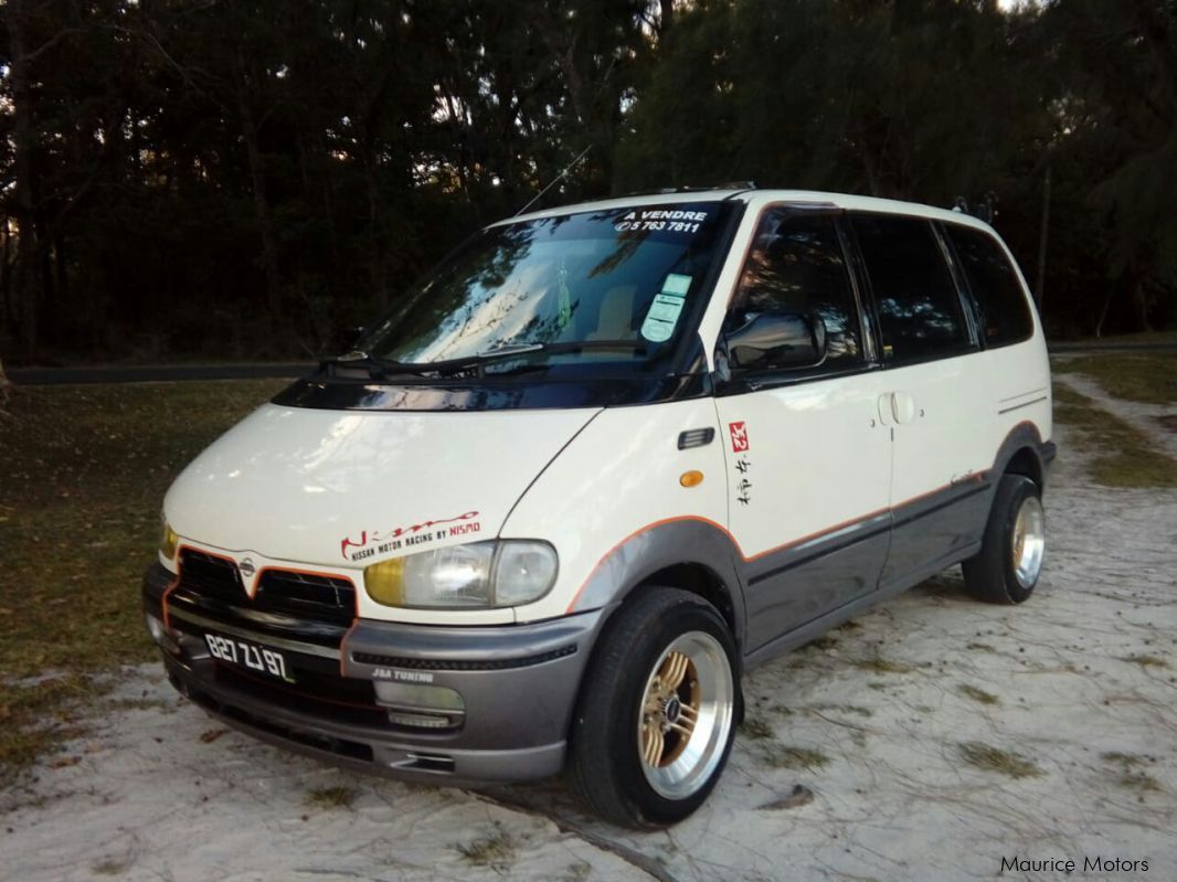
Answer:
POLYGON ((681 338, 729 209, 650 205, 491 227, 358 348, 403 365, 652 361, 681 338))

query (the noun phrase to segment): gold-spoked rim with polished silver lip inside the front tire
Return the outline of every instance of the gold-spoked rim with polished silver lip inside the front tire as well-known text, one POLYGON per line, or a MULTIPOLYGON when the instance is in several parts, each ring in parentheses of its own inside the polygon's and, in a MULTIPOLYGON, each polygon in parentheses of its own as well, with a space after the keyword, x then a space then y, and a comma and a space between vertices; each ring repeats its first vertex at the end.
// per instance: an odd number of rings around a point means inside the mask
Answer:
POLYGON ((731 662, 710 634, 683 634, 663 650, 637 733, 641 770, 659 795, 685 799, 711 779, 731 734, 734 691, 731 662))

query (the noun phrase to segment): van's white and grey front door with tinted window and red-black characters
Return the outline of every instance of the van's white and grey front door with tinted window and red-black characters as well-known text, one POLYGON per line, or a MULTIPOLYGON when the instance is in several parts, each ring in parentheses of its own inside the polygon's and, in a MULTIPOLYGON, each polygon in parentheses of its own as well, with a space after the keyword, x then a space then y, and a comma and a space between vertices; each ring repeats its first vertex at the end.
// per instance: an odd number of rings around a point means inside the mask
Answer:
POLYGON ((872 592, 887 553, 885 372, 870 367, 837 223, 836 213, 767 209, 724 325, 805 316, 827 348, 819 366, 733 366, 717 392, 749 650, 872 592))

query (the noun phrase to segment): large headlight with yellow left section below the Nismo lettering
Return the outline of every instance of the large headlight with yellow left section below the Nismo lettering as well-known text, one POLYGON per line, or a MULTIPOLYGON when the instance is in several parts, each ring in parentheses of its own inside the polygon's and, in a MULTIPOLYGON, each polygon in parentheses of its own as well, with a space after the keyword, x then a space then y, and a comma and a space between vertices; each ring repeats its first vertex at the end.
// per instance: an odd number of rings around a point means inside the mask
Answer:
POLYGON ((373 563, 364 587, 386 607, 517 607, 547 594, 556 570, 556 549, 546 542, 471 542, 373 563))

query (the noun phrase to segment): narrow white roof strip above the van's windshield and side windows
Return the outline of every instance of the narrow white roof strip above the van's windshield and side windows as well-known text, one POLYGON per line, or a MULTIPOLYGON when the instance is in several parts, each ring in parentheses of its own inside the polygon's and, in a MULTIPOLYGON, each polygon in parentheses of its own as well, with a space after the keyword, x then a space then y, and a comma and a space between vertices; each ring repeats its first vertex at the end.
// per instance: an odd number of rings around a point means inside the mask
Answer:
POLYGON ((617 208, 631 208, 651 205, 677 205, 681 202, 723 202, 732 200, 744 202, 754 208, 776 202, 794 203, 802 206, 830 206, 858 212, 882 212, 887 214, 907 214, 920 218, 931 218, 956 223, 965 223, 980 229, 991 229, 982 220, 964 212, 953 212, 947 208, 935 208, 919 202, 904 202, 897 199, 877 199, 875 196, 857 196, 849 193, 825 193, 822 191, 807 189, 752 189, 752 188, 725 188, 725 189, 679 189, 661 191, 653 193, 640 193, 618 199, 603 199, 593 202, 577 202, 573 205, 559 206, 558 208, 545 208, 539 212, 528 212, 517 218, 505 218, 496 225, 513 223, 516 221, 537 220, 540 218, 558 218, 563 214, 576 214, 579 212, 610 211, 617 208))

